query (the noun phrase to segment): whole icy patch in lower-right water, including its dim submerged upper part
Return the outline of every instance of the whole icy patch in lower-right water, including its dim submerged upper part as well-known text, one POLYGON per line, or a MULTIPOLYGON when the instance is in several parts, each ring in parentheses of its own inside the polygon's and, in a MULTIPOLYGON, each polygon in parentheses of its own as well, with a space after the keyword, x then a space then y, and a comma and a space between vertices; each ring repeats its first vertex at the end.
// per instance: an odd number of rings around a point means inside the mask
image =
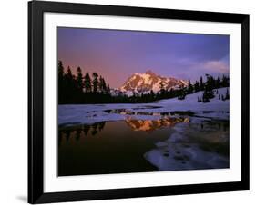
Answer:
POLYGON ((156 147, 147 151, 144 157, 159 171, 228 168, 228 156, 201 148, 204 143, 221 147, 227 142, 229 132, 216 130, 214 125, 205 124, 201 130, 197 123, 179 123, 167 141, 157 142, 156 147))

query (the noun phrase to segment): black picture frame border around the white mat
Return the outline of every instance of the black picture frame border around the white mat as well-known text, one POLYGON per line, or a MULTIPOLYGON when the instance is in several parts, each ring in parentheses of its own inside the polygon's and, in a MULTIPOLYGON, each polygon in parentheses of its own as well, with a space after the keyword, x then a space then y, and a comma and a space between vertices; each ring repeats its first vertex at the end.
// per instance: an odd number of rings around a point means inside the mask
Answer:
POLYGON ((249 190, 249 15, 113 5, 32 1, 28 3, 28 202, 103 200, 249 190), (241 181, 128 188, 44 192, 44 42, 46 12, 134 16, 241 24, 241 181))

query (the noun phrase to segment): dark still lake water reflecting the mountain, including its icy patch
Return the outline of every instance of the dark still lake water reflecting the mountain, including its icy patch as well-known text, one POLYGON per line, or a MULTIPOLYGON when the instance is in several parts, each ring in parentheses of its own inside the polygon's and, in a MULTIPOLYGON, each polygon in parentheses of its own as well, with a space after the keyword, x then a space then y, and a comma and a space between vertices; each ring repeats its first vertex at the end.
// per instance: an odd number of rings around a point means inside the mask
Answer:
POLYGON ((58 175, 229 167, 229 122, 187 117, 59 126, 58 175))

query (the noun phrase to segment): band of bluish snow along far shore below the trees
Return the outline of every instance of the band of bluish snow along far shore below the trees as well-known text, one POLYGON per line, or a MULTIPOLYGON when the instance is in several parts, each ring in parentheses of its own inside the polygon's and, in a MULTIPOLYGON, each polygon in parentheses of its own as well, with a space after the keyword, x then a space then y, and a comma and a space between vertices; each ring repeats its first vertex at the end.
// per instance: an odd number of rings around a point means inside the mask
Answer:
MULTIPOLYGON (((219 89, 220 95, 225 95, 227 88, 219 89)), ((219 100, 218 95, 208 103, 198 102, 202 92, 189 94, 185 100, 177 98, 161 100, 152 103, 117 103, 117 104, 68 104, 58 105, 58 124, 92 124, 103 121, 118 121, 127 118, 138 120, 158 120, 161 112, 194 112, 201 117, 229 119, 230 101, 219 100), (109 112, 118 111, 122 112, 109 112), (138 114, 138 112, 140 112, 138 114), (145 114, 143 114, 145 113, 145 114), (147 113, 156 113, 148 115, 147 113)))

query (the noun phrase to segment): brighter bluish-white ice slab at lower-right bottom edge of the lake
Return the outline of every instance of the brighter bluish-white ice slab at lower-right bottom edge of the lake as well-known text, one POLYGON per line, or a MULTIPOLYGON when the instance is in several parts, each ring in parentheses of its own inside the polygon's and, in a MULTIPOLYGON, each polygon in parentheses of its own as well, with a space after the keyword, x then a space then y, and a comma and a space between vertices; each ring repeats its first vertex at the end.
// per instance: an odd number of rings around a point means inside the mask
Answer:
POLYGON ((159 171, 228 168, 229 159, 215 152, 203 151, 196 143, 171 143, 144 154, 159 171))

